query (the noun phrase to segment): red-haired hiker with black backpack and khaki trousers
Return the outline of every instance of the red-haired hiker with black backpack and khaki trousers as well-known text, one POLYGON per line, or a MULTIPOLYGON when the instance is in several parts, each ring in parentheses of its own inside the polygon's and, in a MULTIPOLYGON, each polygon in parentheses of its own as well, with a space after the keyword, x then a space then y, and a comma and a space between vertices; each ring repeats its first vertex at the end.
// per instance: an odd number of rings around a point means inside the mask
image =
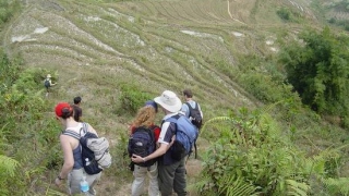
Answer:
MULTIPOLYGON (((146 101, 145 106, 137 112, 130 127, 129 154, 151 155, 157 148, 157 139, 159 138, 160 127, 154 124, 157 112, 157 105, 155 101, 146 101)), ((148 195, 158 196, 158 170, 157 160, 148 160, 141 163, 131 163, 133 170, 132 196, 140 196, 143 194, 145 177, 149 176, 148 195)))

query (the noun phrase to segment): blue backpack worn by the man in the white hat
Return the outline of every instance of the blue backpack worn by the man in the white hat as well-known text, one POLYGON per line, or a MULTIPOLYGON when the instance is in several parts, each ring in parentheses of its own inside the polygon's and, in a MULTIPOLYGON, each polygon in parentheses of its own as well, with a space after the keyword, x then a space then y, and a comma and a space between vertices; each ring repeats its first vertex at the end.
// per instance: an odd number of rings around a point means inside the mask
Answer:
POLYGON ((165 122, 176 124, 176 140, 170 147, 172 159, 181 160, 183 157, 190 156, 198 136, 197 127, 185 115, 180 114, 173 115, 165 122))

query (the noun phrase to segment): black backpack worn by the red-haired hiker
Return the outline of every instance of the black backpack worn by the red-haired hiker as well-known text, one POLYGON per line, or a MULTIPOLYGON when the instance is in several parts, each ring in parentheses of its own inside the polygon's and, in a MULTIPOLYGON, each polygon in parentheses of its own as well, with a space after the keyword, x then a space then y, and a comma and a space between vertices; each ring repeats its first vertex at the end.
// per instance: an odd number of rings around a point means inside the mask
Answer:
MULTIPOLYGON (((146 126, 136 127, 129 139, 128 151, 131 157, 133 154, 146 157, 156 150, 156 143, 154 130, 146 126)), ((156 159, 151 159, 145 162, 134 163, 140 167, 151 167, 155 163, 156 159)))

